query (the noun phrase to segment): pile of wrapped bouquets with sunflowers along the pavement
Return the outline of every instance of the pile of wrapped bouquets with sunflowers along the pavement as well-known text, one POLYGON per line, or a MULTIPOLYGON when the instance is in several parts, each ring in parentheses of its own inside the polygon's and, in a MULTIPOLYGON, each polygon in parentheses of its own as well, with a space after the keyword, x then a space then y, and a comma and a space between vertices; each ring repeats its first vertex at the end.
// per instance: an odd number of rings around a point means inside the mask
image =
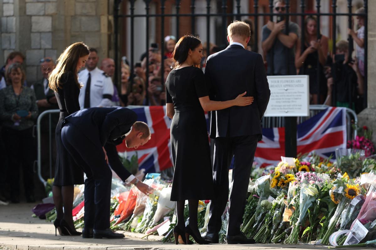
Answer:
MULTIPOLYGON (((360 155, 348 154, 332 162, 310 154, 282 157, 277 166, 264 169, 254 166, 241 231, 263 244, 376 246, 376 163, 360 155)), ((144 237, 161 235, 163 242, 171 242, 176 224, 171 183, 159 174, 148 174, 144 183, 155 189, 152 195, 113 179, 111 229, 144 237)), ((209 206, 210 201, 199 202, 201 232, 208 224, 209 206)), ((188 218, 188 204, 185 209, 188 218)), ((76 228, 83 227, 83 213, 83 186, 78 186, 73 210, 76 228)), ((55 210, 46 217, 54 220, 55 210)), ((221 243, 226 241, 227 219, 228 204, 222 216, 221 243)))

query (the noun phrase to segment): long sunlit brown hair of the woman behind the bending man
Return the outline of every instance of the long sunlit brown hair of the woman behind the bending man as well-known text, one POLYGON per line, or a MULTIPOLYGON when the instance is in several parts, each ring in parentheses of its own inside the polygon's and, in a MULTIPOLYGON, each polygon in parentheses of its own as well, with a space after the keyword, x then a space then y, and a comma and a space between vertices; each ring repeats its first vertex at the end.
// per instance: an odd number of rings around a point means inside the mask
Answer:
POLYGON ((74 80, 77 86, 81 88, 82 85, 78 82, 77 64, 80 57, 89 54, 89 47, 85 43, 76 42, 68 46, 59 56, 59 59, 56 61, 55 69, 52 70, 49 75, 49 87, 55 92, 58 91, 58 88, 63 88, 62 82, 60 81, 61 76, 65 72, 71 71, 74 73, 74 80))

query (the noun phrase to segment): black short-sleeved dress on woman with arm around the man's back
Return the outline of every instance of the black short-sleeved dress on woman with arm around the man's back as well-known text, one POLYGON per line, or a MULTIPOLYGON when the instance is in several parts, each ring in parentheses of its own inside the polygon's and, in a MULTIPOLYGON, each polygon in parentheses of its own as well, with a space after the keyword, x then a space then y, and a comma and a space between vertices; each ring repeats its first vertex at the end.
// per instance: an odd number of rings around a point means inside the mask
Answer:
POLYGON ((171 151, 174 177, 171 201, 206 200, 214 196, 208 129, 199 97, 208 96, 202 70, 171 70, 166 80, 166 103, 173 103, 171 151))

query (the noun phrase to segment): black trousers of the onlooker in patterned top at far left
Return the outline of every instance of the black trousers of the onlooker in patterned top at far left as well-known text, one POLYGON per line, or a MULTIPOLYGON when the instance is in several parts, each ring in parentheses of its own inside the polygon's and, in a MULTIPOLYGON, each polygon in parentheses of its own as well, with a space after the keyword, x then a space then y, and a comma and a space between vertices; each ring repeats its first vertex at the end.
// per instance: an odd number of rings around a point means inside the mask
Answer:
POLYGON ((3 144, 7 154, 9 168, 6 170, 11 199, 20 196, 20 168, 22 166, 25 196, 34 194, 33 164, 36 159, 36 145, 33 127, 15 130, 2 128, 3 144))

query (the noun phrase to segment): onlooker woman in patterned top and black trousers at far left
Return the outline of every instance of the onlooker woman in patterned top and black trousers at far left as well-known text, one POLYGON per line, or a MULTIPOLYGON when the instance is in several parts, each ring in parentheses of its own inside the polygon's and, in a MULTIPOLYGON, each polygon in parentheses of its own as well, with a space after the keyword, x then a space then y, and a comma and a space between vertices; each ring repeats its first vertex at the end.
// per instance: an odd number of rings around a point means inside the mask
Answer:
POLYGON ((33 162, 36 156, 33 126, 38 116, 34 91, 23 86, 25 72, 14 63, 7 69, 8 87, 0 90, 0 122, 2 138, 9 157, 8 178, 11 201, 20 202, 20 165, 23 168, 27 202, 35 202, 33 162))

